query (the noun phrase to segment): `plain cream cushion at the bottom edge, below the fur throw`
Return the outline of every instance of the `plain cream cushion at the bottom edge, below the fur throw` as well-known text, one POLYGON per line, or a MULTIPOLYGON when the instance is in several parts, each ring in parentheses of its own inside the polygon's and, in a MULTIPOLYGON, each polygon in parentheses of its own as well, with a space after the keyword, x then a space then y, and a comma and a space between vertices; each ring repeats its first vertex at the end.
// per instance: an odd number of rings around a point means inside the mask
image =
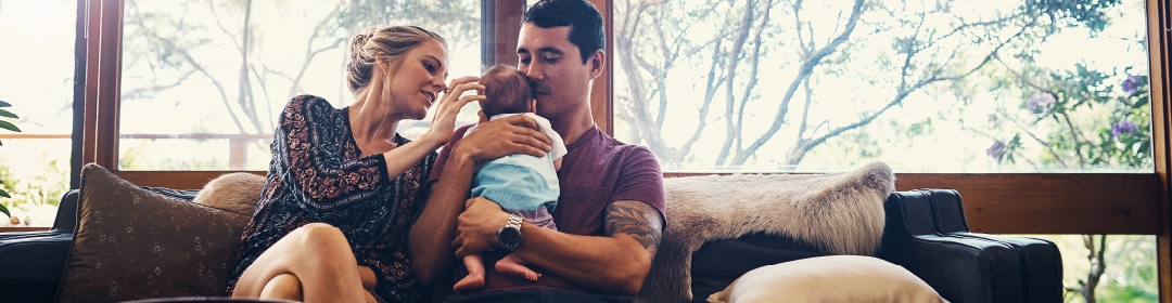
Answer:
POLYGON ((870 256, 834 255, 749 270, 708 302, 948 301, 900 266, 870 256))

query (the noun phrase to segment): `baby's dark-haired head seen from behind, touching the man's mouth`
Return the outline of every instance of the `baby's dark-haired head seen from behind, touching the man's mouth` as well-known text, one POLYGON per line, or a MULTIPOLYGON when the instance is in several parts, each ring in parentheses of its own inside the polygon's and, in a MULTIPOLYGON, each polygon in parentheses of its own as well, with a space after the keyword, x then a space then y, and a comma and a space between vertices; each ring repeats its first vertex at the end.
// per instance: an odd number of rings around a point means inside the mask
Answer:
POLYGON ((533 90, 525 73, 497 64, 484 71, 479 83, 484 85, 481 111, 485 117, 533 111, 533 90))

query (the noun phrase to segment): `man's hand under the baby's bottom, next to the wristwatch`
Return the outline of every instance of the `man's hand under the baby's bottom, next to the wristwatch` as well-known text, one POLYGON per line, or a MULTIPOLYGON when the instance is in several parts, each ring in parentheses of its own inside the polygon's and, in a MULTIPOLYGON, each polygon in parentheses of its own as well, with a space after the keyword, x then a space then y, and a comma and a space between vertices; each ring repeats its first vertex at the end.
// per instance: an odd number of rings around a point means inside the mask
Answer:
POLYGON ((477 197, 469 199, 465 205, 466 209, 457 219, 456 240, 451 242, 457 257, 496 247, 497 230, 509 222, 509 213, 489 199, 477 197))

